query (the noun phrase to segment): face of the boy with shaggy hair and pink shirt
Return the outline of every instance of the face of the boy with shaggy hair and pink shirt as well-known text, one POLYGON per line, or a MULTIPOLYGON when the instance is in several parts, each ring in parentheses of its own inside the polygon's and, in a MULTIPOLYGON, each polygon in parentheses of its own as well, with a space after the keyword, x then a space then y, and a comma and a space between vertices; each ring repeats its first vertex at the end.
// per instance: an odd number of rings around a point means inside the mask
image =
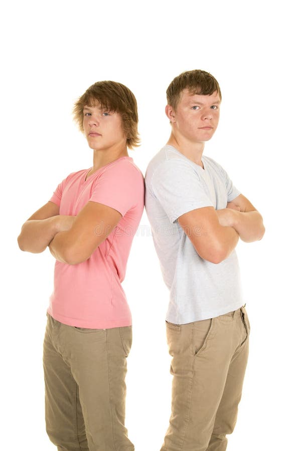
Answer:
POLYGON ((83 127, 89 147, 93 150, 108 150, 117 145, 126 146, 119 113, 99 107, 85 106, 83 127))

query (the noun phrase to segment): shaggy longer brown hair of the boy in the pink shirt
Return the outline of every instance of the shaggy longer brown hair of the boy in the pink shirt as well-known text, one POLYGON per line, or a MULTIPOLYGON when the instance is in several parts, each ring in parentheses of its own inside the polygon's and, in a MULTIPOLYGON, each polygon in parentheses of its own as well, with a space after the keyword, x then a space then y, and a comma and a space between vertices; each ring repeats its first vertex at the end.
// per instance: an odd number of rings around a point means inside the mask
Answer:
POLYGON ((127 147, 132 149, 139 145, 137 102, 126 86, 106 80, 96 82, 86 90, 73 107, 74 121, 82 132, 85 106, 101 106, 108 111, 119 113, 127 147))

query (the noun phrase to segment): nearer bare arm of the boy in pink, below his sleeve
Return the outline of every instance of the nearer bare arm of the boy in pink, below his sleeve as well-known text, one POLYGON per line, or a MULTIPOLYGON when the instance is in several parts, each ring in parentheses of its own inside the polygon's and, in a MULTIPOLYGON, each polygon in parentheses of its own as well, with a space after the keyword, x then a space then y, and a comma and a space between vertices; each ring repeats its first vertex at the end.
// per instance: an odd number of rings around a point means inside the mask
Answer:
POLYGON ((89 201, 76 216, 72 227, 55 235, 49 244, 51 254, 68 265, 88 260, 121 217, 121 213, 114 208, 89 201))

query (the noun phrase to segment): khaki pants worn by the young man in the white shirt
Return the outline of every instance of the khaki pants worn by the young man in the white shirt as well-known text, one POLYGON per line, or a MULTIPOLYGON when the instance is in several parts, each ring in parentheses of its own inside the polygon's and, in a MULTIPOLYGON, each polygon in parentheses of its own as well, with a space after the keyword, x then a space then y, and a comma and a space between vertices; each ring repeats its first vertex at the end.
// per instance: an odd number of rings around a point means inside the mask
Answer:
POLYGON ((204 321, 167 323, 173 356, 172 415, 161 451, 224 451, 248 359, 244 307, 204 321))

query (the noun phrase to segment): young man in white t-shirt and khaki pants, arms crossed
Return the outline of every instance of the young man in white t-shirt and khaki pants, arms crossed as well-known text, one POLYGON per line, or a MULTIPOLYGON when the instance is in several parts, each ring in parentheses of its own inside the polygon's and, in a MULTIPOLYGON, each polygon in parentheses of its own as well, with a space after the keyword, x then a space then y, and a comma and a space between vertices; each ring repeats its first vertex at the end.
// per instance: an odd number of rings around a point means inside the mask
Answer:
POLYGON ((223 451, 234 429, 248 358, 249 321, 235 247, 260 240, 260 213, 203 155, 221 104, 215 78, 180 74, 167 90, 172 126, 145 176, 146 212, 170 289, 172 414, 161 451, 223 451))

